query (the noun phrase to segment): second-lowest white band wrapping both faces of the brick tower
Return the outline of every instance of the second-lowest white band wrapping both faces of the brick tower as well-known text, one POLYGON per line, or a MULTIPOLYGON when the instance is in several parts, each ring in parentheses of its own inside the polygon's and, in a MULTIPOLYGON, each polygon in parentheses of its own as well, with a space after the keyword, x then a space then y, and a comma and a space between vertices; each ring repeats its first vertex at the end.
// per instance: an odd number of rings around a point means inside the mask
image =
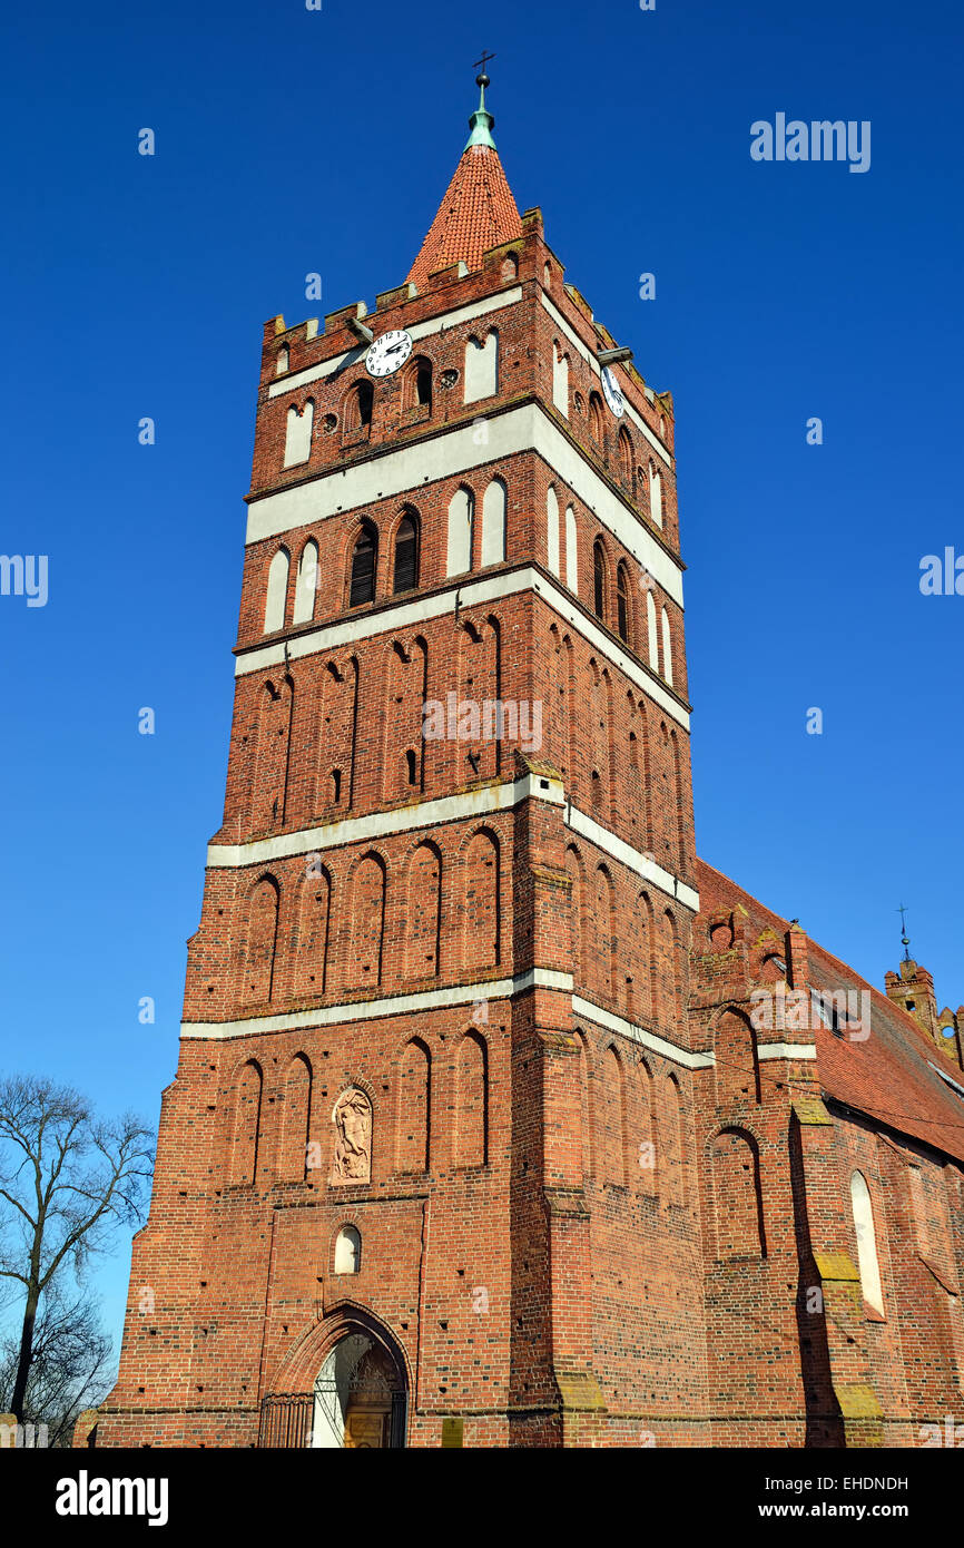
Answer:
MULTIPOLYGON (((289 859, 292 854, 316 854, 342 844, 364 844, 385 839, 395 833, 415 833, 436 827, 441 822, 463 822, 466 817, 486 817, 495 811, 511 811, 520 800, 545 800, 552 807, 565 803, 565 791, 559 780, 540 774, 528 774, 512 785, 486 785, 461 796, 443 796, 438 800, 422 800, 398 811, 373 811, 367 817, 347 817, 342 822, 325 822, 317 828, 299 828, 294 833, 279 833, 271 839, 254 839, 251 844, 209 844, 207 865, 221 870, 241 870, 244 865, 266 865, 289 859)), ((645 876, 668 898, 699 910, 699 893, 678 881, 634 850, 631 844, 617 839, 593 817, 576 807, 566 808, 566 827, 580 833, 614 861, 628 865, 638 876, 645 876)))

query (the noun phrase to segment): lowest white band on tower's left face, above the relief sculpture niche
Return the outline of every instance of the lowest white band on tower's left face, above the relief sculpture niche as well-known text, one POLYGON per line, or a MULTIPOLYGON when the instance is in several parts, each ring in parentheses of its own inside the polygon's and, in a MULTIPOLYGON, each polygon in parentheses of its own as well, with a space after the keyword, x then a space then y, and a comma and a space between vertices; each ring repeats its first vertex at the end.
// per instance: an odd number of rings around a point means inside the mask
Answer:
POLYGON ((452 1005, 508 1000, 526 989, 557 989, 571 994, 573 974, 531 968, 529 972, 517 974, 514 978, 487 978, 481 983, 452 985, 447 989, 427 989, 422 994, 393 994, 384 1000, 325 1005, 316 1011, 292 1011, 289 1015, 252 1015, 238 1022, 181 1022, 181 1037, 257 1037, 263 1033, 296 1033, 309 1026, 340 1026, 342 1022, 374 1022, 382 1015, 407 1015, 413 1011, 439 1011, 452 1005))

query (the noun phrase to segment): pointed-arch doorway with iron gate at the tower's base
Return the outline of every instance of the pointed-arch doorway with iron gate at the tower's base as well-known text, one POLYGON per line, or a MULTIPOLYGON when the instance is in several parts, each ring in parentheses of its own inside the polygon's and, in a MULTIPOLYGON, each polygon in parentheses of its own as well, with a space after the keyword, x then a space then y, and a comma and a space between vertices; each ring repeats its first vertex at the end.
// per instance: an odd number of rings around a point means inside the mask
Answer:
POLYGON ((314 1382, 311 1444, 385 1450, 405 1444, 405 1376, 391 1350, 354 1328, 330 1350, 314 1382))

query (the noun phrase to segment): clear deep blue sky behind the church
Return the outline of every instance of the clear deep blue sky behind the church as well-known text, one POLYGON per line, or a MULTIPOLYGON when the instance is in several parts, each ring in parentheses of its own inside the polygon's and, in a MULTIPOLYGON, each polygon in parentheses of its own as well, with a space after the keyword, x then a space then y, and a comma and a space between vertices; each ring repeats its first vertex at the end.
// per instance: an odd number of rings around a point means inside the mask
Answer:
MULTIPOLYGON (((964 596, 918 588, 964 553, 959 6, 19 11, 0 550, 50 556, 50 601, 0 598, 5 1067, 156 1121, 221 816, 262 324, 401 283, 483 48, 520 209, 675 393, 699 853, 876 983, 905 902, 964 1000, 964 596), (777 111, 870 119, 870 172, 750 161, 777 111)), ((97 1277, 115 1334, 127 1268, 122 1243, 97 1277)))

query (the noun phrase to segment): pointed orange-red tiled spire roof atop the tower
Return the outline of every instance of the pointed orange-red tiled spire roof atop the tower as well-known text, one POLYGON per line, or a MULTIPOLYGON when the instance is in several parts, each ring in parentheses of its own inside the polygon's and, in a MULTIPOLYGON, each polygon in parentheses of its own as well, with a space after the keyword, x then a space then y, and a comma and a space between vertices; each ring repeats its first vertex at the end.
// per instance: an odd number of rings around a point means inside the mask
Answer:
POLYGON ((498 248, 514 237, 521 237, 521 220, 498 152, 489 146, 469 146, 409 271, 409 280, 422 286, 435 269, 446 269, 460 259, 470 271, 480 269, 487 248, 498 248))

